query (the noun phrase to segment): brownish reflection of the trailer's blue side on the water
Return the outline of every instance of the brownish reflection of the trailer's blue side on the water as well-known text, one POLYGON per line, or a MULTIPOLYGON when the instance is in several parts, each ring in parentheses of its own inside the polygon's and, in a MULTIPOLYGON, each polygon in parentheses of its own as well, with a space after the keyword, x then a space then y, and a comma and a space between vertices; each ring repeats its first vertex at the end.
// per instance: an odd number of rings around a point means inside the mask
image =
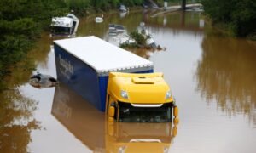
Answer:
POLYGON ((104 113, 62 83, 55 88, 51 113, 90 150, 105 149, 104 113))

